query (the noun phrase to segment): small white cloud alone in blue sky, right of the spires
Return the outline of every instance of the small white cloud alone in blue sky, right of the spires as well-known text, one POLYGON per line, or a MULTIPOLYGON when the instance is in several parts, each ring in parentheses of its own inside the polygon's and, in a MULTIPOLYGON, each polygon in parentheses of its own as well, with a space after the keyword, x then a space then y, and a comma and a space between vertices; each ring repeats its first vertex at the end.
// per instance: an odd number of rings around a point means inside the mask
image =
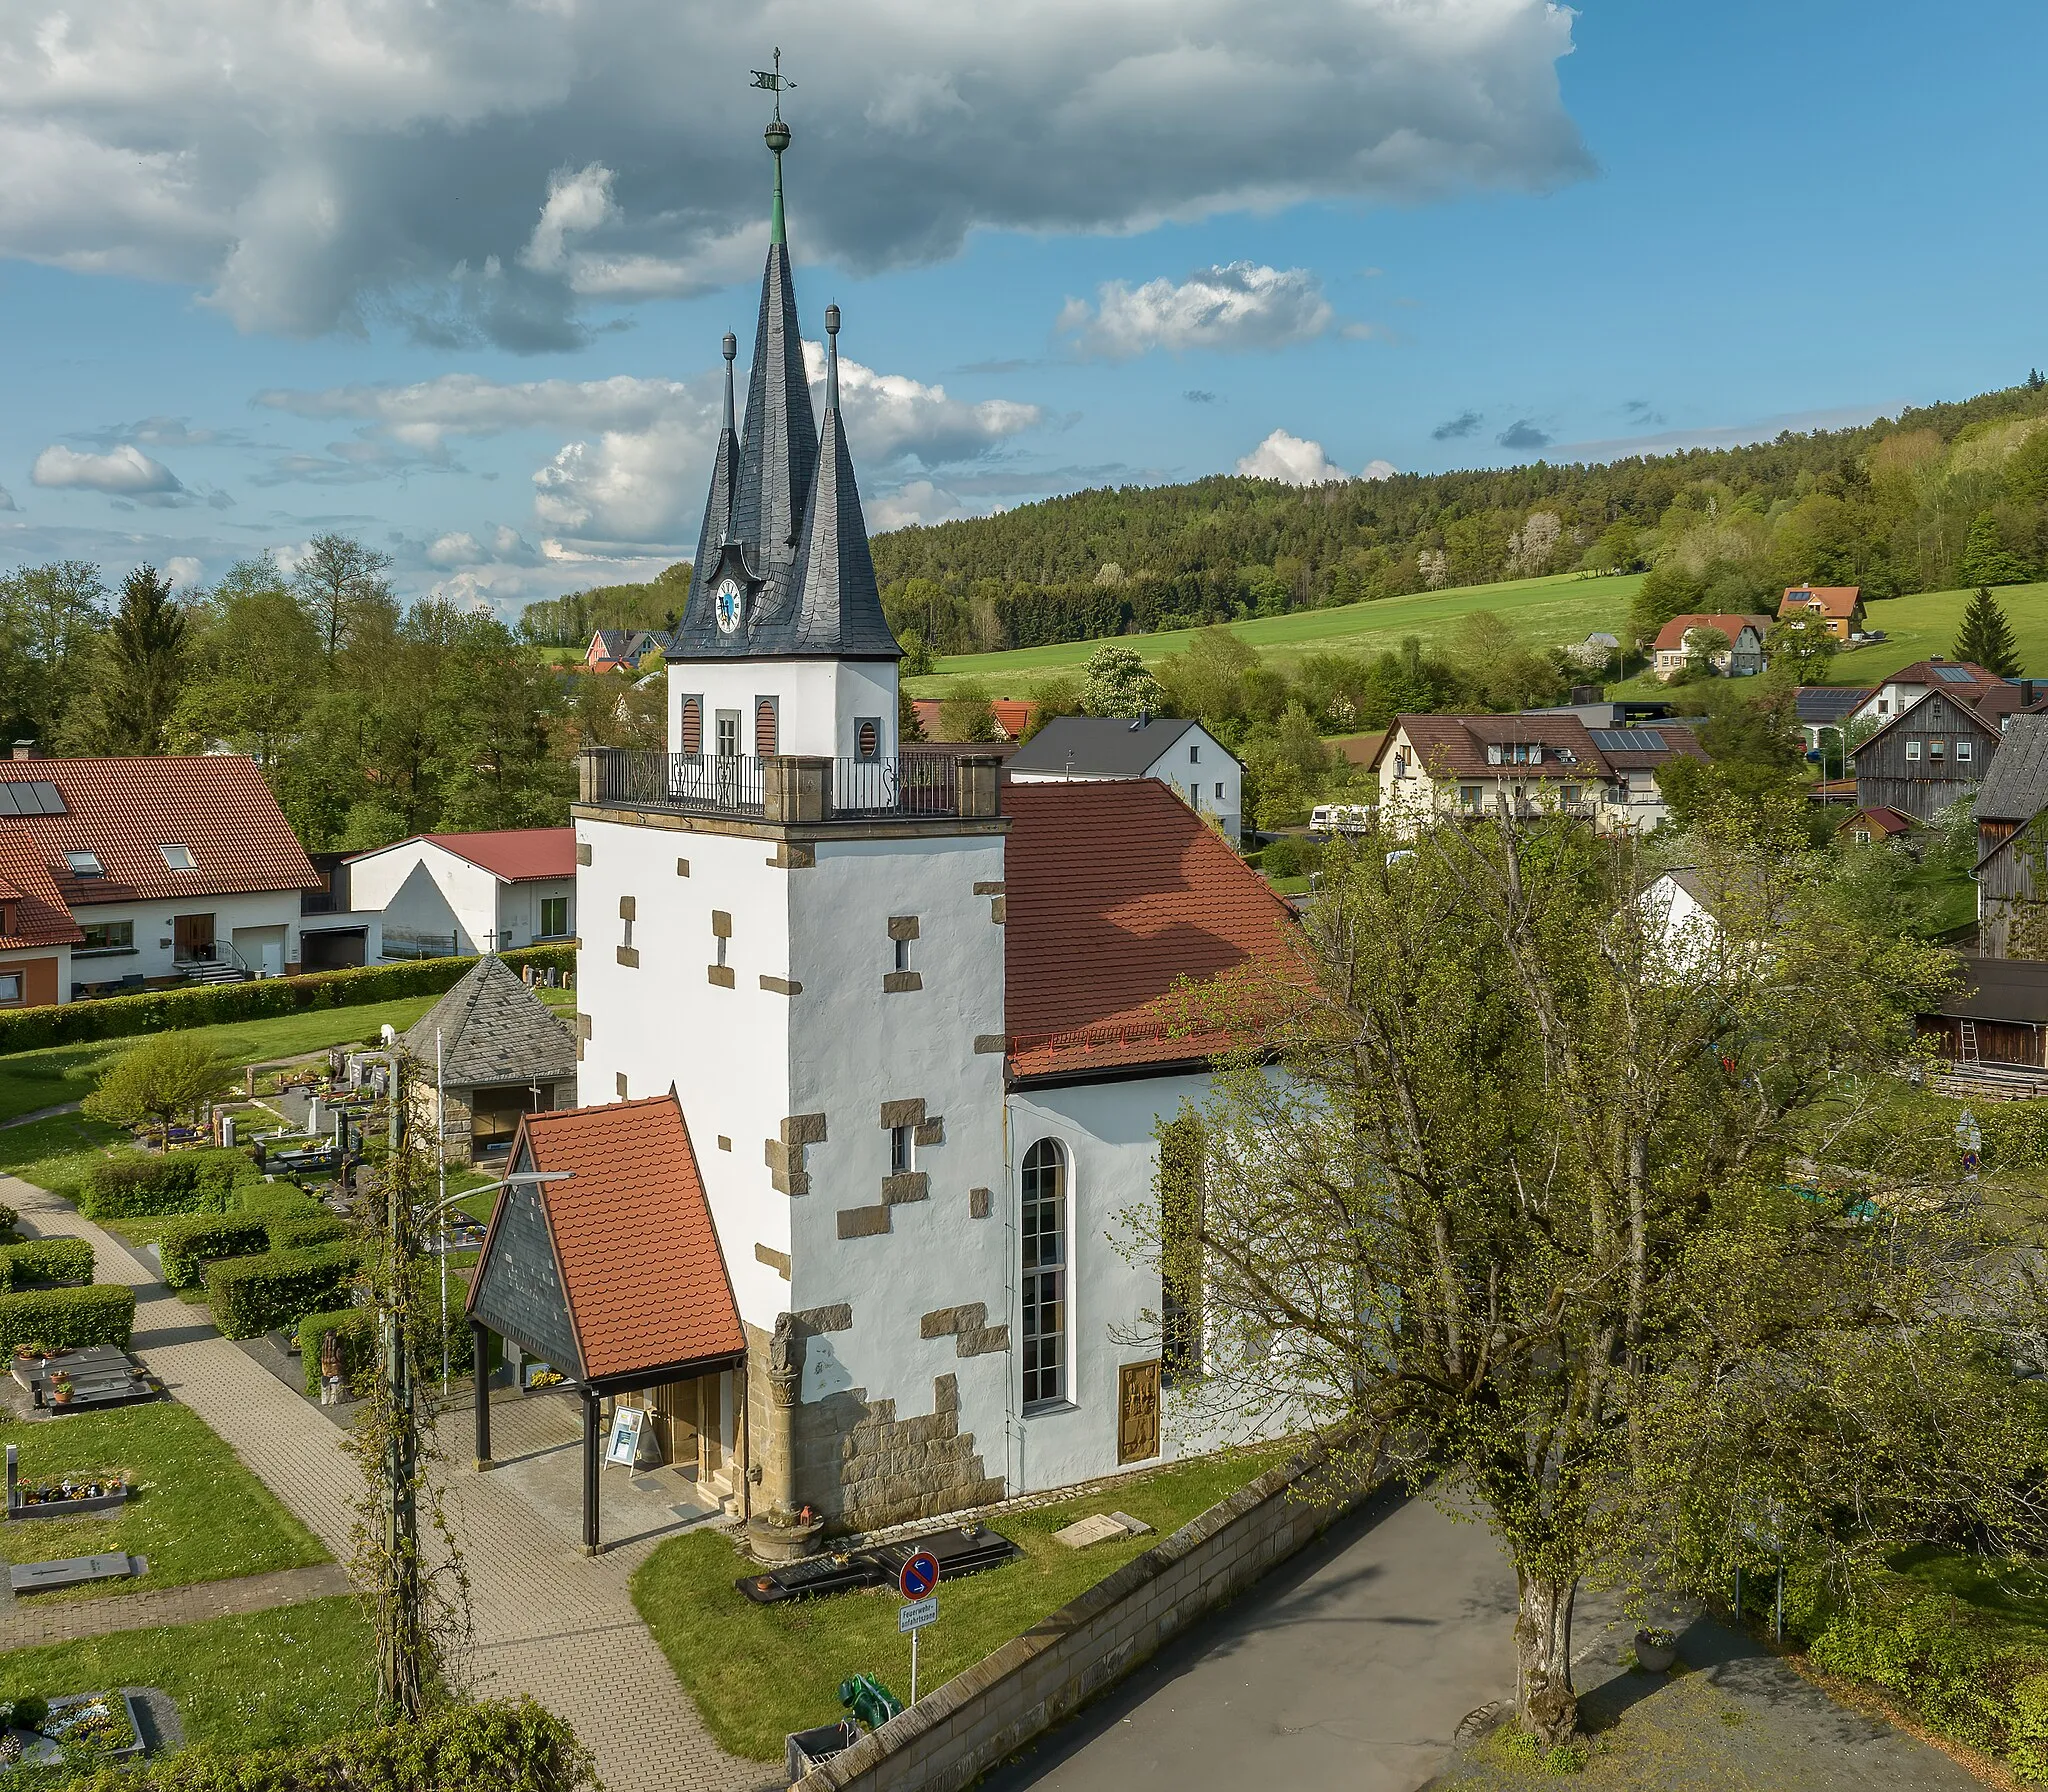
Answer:
POLYGON ((1323 283, 1309 268, 1231 262, 1198 268, 1186 281, 1126 287, 1108 281, 1096 305, 1069 299, 1055 326, 1081 354, 1130 360, 1153 348, 1286 348, 1313 342, 1335 322, 1323 283))

